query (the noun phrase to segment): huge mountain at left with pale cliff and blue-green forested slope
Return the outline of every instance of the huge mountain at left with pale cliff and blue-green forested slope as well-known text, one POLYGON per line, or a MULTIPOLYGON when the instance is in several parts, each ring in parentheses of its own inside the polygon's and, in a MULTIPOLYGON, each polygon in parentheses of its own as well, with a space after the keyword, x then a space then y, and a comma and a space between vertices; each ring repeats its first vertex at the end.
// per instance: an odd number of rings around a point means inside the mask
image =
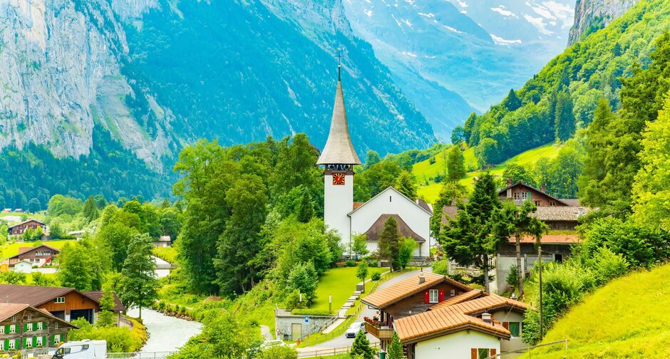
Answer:
POLYGON ((343 13, 339 0, 1 1, 4 207, 168 194, 178 151, 201 137, 306 132, 321 147, 338 47, 359 153, 428 147, 431 125, 343 13))

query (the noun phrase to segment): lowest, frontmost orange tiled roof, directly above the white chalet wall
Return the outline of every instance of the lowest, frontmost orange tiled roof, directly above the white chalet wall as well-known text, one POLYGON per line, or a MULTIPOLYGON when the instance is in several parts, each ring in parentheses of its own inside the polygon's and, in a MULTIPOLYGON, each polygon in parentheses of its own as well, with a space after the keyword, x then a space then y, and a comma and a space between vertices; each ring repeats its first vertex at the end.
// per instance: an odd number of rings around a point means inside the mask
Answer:
POLYGON ((472 329, 498 338, 509 339, 510 331, 497 323, 486 323, 480 318, 468 316, 453 307, 439 308, 413 316, 396 319, 393 326, 403 344, 415 343, 421 338, 472 329))

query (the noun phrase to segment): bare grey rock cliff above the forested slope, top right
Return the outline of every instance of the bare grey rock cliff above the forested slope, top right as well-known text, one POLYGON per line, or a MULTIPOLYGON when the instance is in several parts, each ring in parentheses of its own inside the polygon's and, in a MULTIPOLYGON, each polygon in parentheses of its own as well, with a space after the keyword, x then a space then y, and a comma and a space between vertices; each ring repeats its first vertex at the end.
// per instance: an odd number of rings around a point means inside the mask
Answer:
POLYGON ((572 46, 582 36, 609 25, 638 2, 639 0, 577 0, 574 24, 570 28, 567 46, 572 46))

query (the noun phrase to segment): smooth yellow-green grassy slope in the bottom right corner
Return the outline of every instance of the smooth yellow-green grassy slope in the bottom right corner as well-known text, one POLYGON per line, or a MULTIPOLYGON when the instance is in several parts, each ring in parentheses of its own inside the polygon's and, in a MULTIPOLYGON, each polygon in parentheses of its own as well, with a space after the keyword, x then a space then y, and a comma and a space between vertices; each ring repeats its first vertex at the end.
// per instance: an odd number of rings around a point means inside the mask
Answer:
POLYGON ((532 358, 670 358, 669 307, 670 264, 629 274, 588 296, 547 333, 543 343, 567 339, 567 353, 538 349, 532 358))

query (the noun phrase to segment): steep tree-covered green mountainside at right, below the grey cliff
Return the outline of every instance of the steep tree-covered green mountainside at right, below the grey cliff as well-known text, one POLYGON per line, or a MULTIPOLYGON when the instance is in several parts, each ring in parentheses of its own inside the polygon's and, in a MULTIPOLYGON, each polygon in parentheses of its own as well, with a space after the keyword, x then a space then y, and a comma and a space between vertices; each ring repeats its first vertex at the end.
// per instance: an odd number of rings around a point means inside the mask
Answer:
POLYGON ((599 99, 619 108, 619 78, 631 76, 638 64, 649 64, 654 39, 667 31, 669 13, 670 2, 663 0, 633 6, 553 58, 502 103, 468 118, 455 134, 475 147, 480 165, 503 162, 557 139, 565 141, 566 135, 591 123, 599 99), (557 119, 567 130, 556 127, 557 119))

